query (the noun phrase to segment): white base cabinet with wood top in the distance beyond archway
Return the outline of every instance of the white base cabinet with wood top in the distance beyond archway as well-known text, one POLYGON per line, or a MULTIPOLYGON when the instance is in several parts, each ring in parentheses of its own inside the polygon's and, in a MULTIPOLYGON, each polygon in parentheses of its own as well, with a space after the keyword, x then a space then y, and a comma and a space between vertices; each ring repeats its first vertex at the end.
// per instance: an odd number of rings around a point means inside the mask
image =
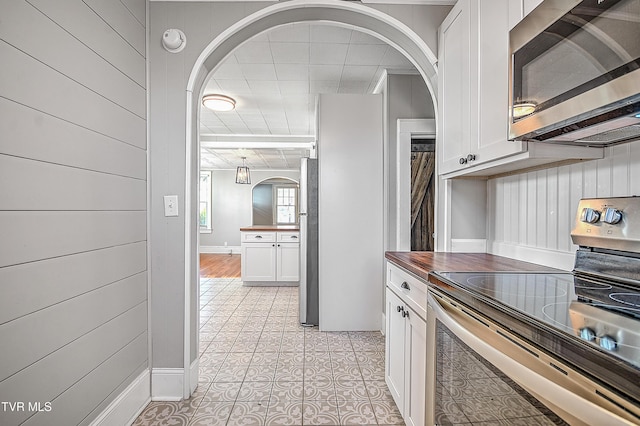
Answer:
POLYGON ((241 232, 241 273, 246 285, 296 285, 300 280, 300 233, 241 232))

